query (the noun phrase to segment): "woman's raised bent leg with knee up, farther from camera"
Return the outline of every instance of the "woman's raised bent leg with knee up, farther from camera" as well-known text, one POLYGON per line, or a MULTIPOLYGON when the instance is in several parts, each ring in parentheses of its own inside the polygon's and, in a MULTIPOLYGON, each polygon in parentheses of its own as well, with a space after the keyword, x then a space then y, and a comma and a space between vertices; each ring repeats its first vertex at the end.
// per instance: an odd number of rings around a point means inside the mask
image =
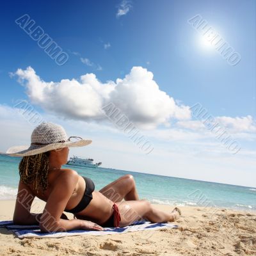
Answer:
POLYGON ((139 200, 136 185, 132 175, 127 174, 111 182, 99 191, 113 202, 139 200))

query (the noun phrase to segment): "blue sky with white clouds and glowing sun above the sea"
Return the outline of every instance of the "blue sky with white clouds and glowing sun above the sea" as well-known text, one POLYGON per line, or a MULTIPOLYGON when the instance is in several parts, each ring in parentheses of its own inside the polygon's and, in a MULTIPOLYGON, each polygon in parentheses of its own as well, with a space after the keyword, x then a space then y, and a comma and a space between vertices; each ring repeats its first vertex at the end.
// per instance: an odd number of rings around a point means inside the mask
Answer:
MULTIPOLYGON (((256 186, 252 179, 256 180, 253 168, 256 156, 255 10, 255 1, 0 3, 1 127, 11 138, 3 138, 1 150, 17 144, 17 140, 29 142, 33 125, 13 109, 15 100, 26 99, 45 120, 67 125, 68 132, 91 136, 95 146, 90 146, 90 150, 74 149, 74 153, 99 159, 103 166, 256 186), (118 12, 122 15, 118 16, 118 12), (44 29, 67 52, 67 63, 57 65, 15 23, 22 15, 29 15, 36 26, 44 29), (216 49, 202 44, 202 35, 188 22, 195 15, 206 20, 240 54, 237 65, 229 65, 216 49), (33 71, 26 72, 28 67, 33 71), (132 71, 133 67, 140 68, 132 71), (35 81, 33 72, 40 79, 35 81), (93 88, 93 95, 89 91, 77 93, 77 84, 72 82, 72 79, 81 82, 80 77, 86 74, 94 74, 101 86, 101 89, 93 88), (58 88, 61 79, 68 81, 58 88), (115 86, 109 81, 117 84, 116 79, 123 81, 120 89, 114 90, 115 86), (48 94, 44 90, 37 97, 38 88, 43 86, 40 81, 52 81, 56 89, 48 94), (127 91, 125 83, 130 86, 127 91), (145 86, 137 90, 140 83, 145 86), (147 94, 150 91, 147 83, 152 88, 157 84, 156 94, 153 89, 151 96, 147 94), (115 91, 111 99, 119 104, 118 108, 152 141, 152 153, 143 154, 115 125, 102 119, 97 111, 93 112, 98 103, 108 102, 108 93, 102 90, 106 84, 109 90, 115 91), (65 94, 68 88, 70 91, 65 94), (175 100, 174 105, 163 92, 175 100), (76 97, 80 95, 78 104, 76 97), (156 104, 154 98, 151 108, 150 97, 154 95, 164 103, 156 104), (58 100, 53 103, 54 99, 58 100), (140 104, 132 104, 134 99, 139 99, 140 104), (220 141, 212 138, 211 132, 200 127, 200 120, 188 116, 188 108, 196 102, 239 142, 239 153, 230 154, 220 141), (86 109, 90 111, 87 113, 86 109), (150 114, 152 111, 156 111, 154 116, 150 114), (14 136, 18 128, 24 129, 24 133, 14 136)), ((92 77, 85 80, 96 83, 92 77)))

